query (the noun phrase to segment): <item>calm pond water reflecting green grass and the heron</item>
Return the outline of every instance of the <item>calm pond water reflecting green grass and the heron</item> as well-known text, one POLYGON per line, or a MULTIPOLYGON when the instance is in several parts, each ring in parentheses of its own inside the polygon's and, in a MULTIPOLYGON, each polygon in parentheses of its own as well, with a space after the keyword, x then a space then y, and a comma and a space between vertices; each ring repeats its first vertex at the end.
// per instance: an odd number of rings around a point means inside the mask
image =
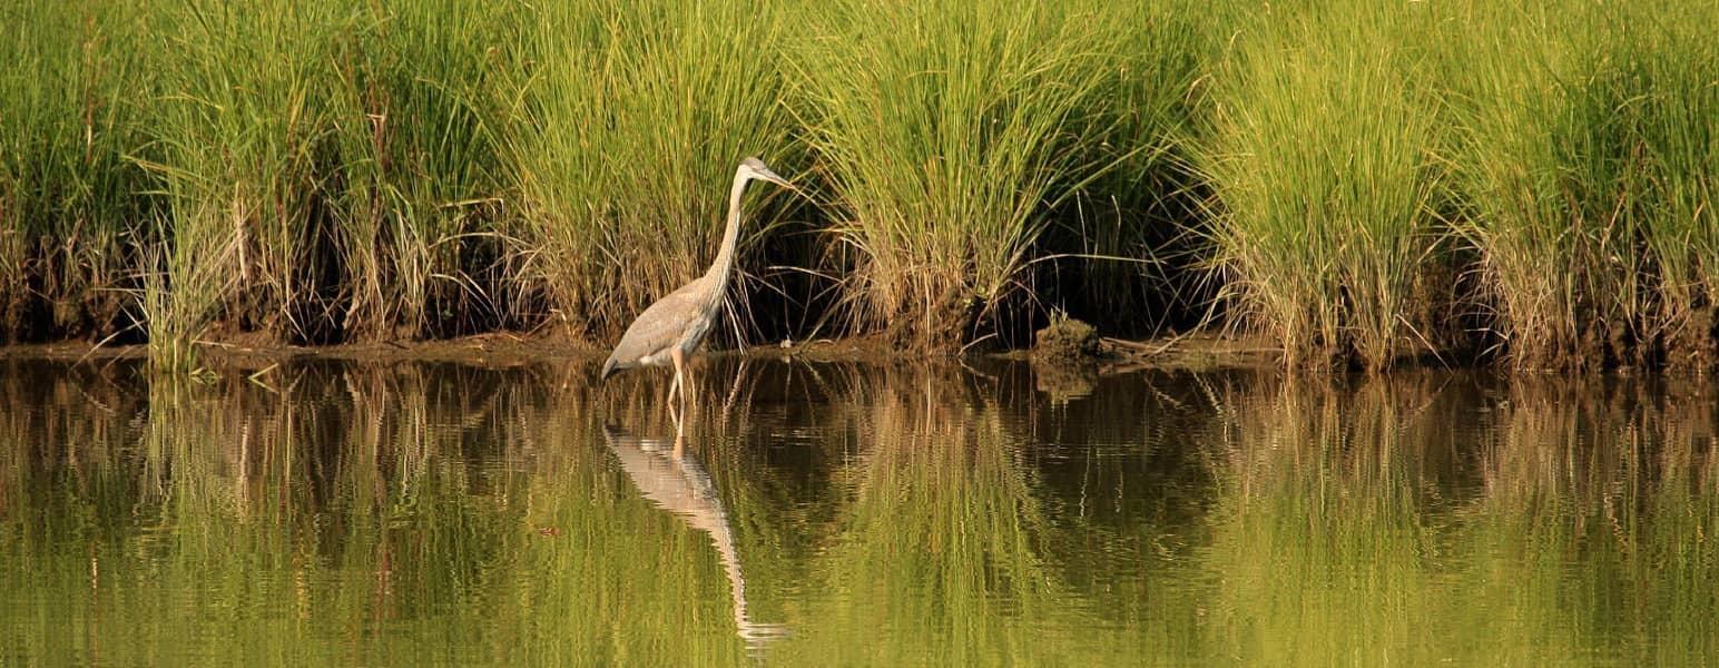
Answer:
POLYGON ((591 374, 0 362, 0 665, 1719 658, 1705 383, 591 374))

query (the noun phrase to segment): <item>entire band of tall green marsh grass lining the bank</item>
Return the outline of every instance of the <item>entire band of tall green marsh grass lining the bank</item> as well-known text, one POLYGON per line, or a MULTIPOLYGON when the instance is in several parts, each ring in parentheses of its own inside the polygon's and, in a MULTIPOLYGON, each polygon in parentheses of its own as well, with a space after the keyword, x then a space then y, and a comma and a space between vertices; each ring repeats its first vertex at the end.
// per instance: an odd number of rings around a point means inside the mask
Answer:
POLYGON ((760 155, 810 197, 749 197, 741 266, 829 287, 743 283, 813 309, 782 321, 959 350, 1217 314, 1294 366, 1700 367, 1709 5, 28 0, 0 333, 138 330, 170 367, 607 342, 708 264, 760 155))

